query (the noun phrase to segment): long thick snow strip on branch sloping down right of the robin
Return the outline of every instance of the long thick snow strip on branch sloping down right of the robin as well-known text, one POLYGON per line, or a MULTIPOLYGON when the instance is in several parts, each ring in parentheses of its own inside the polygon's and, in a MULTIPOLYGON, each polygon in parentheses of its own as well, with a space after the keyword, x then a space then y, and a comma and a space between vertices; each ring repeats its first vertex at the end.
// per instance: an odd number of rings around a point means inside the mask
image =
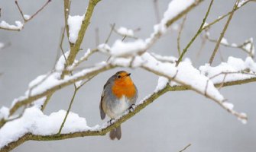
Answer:
POLYGON ((176 67, 175 63, 157 61, 147 52, 141 55, 141 59, 144 61, 141 65, 143 68, 162 74, 164 77, 173 78, 173 81, 178 84, 191 86, 198 93, 204 94, 206 92, 209 97, 219 102, 224 100, 212 81, 209 81, 209 78, 205 75, 200 74, 199 70, 194 68, 190 62, 180 62, 180 65, 176 67))

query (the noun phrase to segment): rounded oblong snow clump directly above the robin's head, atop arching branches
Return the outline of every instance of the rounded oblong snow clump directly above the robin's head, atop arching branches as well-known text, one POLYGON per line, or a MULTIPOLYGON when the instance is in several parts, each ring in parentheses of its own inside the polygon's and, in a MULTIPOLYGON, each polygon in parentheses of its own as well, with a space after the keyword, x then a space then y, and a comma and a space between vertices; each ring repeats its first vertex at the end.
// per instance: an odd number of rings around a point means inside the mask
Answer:
POLYGON ((130 56, 137 55, 138 52, 146 49, 147 44, 144 40, 135 40, 133 42, 122 42, 122 40, 116 40, 110 49, 110 53, 117 56, 130 56))

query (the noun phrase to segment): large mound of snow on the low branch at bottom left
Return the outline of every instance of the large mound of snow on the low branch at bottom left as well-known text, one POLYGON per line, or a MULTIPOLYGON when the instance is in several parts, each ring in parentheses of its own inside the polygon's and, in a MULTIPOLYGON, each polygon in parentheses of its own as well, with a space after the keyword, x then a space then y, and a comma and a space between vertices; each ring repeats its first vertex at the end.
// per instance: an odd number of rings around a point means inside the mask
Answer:
MULTIPOLYGON (((0 148, 12 141, 17 141, 18 138, 27 133, 33 135, 57 134, 65 115, 66 111, 64 110, 53 112, 47 116, 36 107, 26 109, 20 119, 8 122, 1 128, 0 148)), ((61 132, 67 134, 76 131, 88 131, 89 129, 91 128, 87 125, 85 118, 70 112, 61 132)))

